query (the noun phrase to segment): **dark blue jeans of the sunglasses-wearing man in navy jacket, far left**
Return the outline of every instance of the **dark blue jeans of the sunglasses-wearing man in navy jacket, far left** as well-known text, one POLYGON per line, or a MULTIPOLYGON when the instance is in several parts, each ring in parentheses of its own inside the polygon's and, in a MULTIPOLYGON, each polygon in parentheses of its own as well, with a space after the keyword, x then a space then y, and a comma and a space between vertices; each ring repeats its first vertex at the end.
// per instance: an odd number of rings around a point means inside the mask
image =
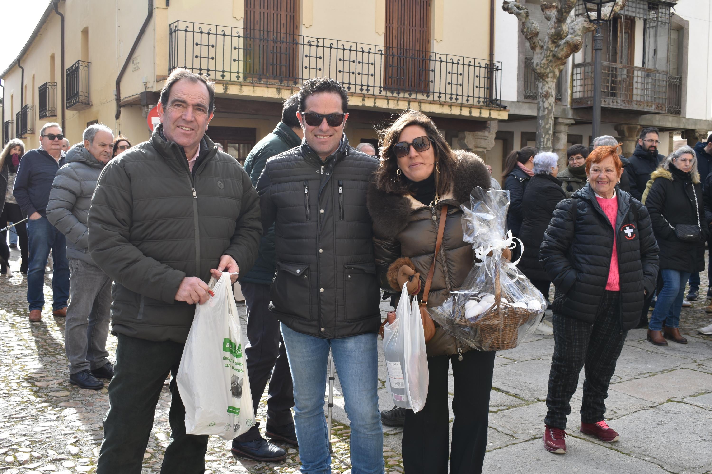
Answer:
POLYGON ((51 225, 47 217, 27 221, 29 264, 27 269, 27 302, 29 309, 44 306, 44 269, 49 252, 54 260, 52 275, 52 309, 66 308, 69 298, 69 262, 67 243, 62 232, 51 225))

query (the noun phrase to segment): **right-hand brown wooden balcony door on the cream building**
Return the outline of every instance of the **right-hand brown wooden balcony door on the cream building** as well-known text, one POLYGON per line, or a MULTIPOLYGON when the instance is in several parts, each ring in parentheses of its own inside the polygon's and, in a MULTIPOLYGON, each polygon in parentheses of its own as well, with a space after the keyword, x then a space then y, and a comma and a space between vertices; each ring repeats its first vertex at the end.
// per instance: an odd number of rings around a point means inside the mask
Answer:
POLYGON ((430 90, 431 0, 386 0, 387 89, 430 90))

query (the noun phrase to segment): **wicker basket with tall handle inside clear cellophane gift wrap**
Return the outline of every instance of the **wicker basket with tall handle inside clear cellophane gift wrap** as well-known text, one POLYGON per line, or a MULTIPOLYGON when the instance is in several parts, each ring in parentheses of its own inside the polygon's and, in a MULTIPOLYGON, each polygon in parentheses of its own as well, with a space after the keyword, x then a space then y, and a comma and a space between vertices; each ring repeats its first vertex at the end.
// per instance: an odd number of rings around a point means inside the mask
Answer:
POLYGON ((472 322, 462 316, 457 324, 476 329, 481 345, 483 348, 487 348, 486 350, 513 349, 520 342, 518 340, 519 328, 531 318, 540 316, 543 310, 515 308, 509 305, 503 307, 498 267, 494 274, 494 291, 493 306, 485 311, 477 321, 472 322))

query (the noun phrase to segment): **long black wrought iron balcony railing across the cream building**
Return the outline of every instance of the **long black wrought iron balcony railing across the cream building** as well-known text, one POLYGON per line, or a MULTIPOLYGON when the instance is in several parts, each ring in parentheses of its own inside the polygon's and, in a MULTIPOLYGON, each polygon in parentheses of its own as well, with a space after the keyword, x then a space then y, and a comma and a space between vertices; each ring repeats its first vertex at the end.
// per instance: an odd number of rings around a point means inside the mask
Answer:
POLYGON ((352 93, 503 107, 498 61, 190 21, 169 25, 168 68, 262 85, 333 77, 352 93))

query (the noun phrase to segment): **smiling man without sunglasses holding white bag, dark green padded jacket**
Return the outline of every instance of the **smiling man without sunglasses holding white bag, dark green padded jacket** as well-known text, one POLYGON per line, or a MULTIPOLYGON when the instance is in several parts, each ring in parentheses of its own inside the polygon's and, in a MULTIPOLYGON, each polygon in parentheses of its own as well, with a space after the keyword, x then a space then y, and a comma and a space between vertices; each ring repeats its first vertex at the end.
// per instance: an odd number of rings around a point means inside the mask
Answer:
POLYGON ((239 163, 205 135, 214 87, 184 69, 166 80, 161 124, 112 159, 88 218, 89 250, 113 280, 118 337, 98 474, 139 474, 163 382, 171 373, 171 439, 162 471, 205 470, 208 436, 186 433, 175 375, 206 281, 248 271, 262 232, 257 193, 239 163))

